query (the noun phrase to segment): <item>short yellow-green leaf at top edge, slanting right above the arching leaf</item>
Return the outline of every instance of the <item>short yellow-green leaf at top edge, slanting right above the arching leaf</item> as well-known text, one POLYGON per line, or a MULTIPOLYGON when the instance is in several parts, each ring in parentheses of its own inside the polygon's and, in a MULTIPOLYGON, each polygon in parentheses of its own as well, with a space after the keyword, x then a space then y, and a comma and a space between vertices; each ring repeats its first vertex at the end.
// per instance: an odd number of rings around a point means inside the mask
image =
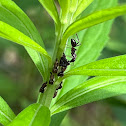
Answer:
POLYGON ((94 0, 79 0, 77 9, 73 15, 73 20, 82 13, 94 0))

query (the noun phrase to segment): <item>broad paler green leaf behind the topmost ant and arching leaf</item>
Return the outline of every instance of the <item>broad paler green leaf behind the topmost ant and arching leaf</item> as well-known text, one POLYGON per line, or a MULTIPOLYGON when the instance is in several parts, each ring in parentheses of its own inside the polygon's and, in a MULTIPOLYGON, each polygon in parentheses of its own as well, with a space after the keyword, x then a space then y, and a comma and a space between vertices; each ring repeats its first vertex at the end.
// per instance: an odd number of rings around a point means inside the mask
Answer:
MULTIPOLYGON (((91 13, 91 8, 93 8, 93 10, 101 10, 104 8, 116 6, 117 0, 97 0, 97 2, 94 1, 93 3, 97 4, 92 4, 86 10, 86 14, 91 13)), ((112 23, 113 20, 109 20, 78 33, 81 45, 77 48, 76 62, 74 62, 74 66, 72 68, 79 67, 95 61, 101 55, 101 51, 108 42, 109 32, 111 30, 112 23)))

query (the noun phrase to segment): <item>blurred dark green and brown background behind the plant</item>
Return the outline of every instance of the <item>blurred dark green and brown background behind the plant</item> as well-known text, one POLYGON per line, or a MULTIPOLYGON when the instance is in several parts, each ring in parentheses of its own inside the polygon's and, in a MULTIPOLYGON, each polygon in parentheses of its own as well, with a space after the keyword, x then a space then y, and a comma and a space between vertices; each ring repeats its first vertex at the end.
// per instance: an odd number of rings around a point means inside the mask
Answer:
MULTIPOLYGON (((14 0, 33 21, 47 51, 54 47, 54 25, 47 12, 37 0, 14 0)), ((120 0, 120 3, 126 2, 120 0)), ((110 39, 100 58, 126 53, 126 16, 115 20, 110 39)), ((0 95, 18 114, 29 104, 36 102, 42 78, 34 63, 22 46, 0 38, 0 95)), ((126 95, 123 101, 116 98, 91 103, 70 110, 61 126, 126 126, 126 95), (113 104, 112 104, 113 103, 113 104)), ((118 97, 122 100, 122 97, 118 97)))

